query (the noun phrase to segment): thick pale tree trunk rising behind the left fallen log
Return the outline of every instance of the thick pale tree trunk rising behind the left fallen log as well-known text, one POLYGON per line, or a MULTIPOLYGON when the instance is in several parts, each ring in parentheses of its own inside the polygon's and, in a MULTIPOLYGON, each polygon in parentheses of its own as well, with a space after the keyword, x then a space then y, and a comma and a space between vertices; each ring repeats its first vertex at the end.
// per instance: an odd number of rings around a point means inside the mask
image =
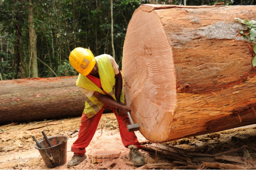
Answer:
POLYGON ((33 12, 33 1, 29 0, 28 6, 28 22, 29 22, 29 54, 31 61, 31 77, 38 77, 38 64, 37 64, 37 51, 36 51, 36 33, 35 33, 35 20, 33 12))

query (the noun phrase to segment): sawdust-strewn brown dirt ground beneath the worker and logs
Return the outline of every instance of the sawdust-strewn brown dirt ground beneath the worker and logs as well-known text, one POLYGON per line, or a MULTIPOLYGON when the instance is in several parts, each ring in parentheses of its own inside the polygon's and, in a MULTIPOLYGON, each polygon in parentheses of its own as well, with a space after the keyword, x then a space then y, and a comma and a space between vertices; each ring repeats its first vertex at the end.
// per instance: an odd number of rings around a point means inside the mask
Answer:
MULTIPOLYGON (((67 168, 67 162, 70 161, 73 153, 70 151, 71 145, 76 140, 77 130, 79 130, 80 117, 64 118, 60 120, 45 120, 42 122, 28 122, 17 124, 6 124, 0 126, 0 169, 136 169, 129 160, 129 150, 122 145, 119 135, 118 123, 113 113, 102 115, 97 131, 87 147, 87 155, 93 154, 97 150, 114 150, 121 151, 119 158, 102 163, 92 163, 92 158, 86 158, 76 167, 67 168), (43 127, 44 126, 44 127, 43 127), (41 127, 41 128, 40 128, 41 127), (34 129, 33 129, 34 128, 34 129), (30 130, 32 129, 32 130, 30 130), (40 141, 43 138, 42 131, 49 136, 67 135, 67 162, 55 168, 47 168, 39 151, 35 149, 35 141, 32 136, 40 141)), ((223 153, 232 149, 240 148, 244 145, 247 147, 247 153, 250 160, 256 160, 256 124, 247 127, 240 127, 230 130, 211 133, 191 138, 183 138, 176 141, 170 141, 163 144, 151 144, 147 141, 139 131, 135 132, 138 140, 143 144, 155 147, 165 146, 172 148, 182 148, 188 152, 200 154, 216 154, 223 153)), ((211 169, 202 166, 202 160, 195 161, 193 167, 189 167, 190 163, 181 163, 175 161, 172 156, 163 156, 157 151, 140 150, 145 157, 146 164, 156 165, 155 168, 147 167, 147 169, 159 169, 157 165, 162 165, 160 169, 211 169), (165 166, 166 165, 166 166, 165 166), (186 166, 184 166, 186 165, 186 166), (165 168, 166 167, 166 168, 165 168)), ((244 154, 241 150, 228 152, 225 155, 233 156, 232 158, 243 158, 244 154)), ((203 155, 203 157, 205 157, 203 155)), ((206 158, 206 157, 205 157, 206 158)), ((243 159, 244 160, 244 159, 243 159)), ((230 163, 221 161, 221 163, 230 163)), ((234 164, 234 163, 233 163, 234 164)), ((146 168, 146 167, 142 167, 146 168)), ((212 168, 216 169, 216 168, 212 168)), ((217 168, 218 169, 218 168, 217 168)), ((221 168, 220 168, 221 169, 221 168)), ((256 169, 249 167, 246 169, 256 169)))

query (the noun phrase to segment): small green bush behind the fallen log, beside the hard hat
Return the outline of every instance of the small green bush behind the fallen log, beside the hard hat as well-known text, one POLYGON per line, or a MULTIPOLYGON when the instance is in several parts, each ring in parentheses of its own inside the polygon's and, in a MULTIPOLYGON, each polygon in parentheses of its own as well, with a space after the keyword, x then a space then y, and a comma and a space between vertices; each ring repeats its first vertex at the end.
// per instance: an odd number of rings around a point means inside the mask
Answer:
POLYGON ((58 66, 56 74, 58 76, 78 75, 78 72, 70 65, 70 62, 65 60, 63 65, 58 66))

